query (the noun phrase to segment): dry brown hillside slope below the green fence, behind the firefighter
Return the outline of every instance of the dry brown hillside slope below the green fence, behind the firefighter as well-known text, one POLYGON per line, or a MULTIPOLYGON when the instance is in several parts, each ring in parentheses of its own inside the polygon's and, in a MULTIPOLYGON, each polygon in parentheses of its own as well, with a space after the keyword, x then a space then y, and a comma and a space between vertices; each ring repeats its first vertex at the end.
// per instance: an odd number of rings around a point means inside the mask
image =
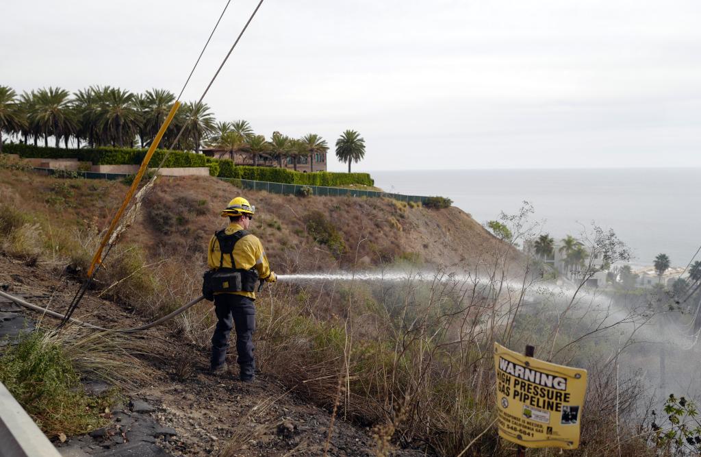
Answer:
MULTIPOLYGON (((55 224, 93 232, 107 226, 125 190, 118 182, 0 171, 0 199, 55 224)), ((226 223, 219 211, 240 194, 256 205, 252 231, 280 273, 348 267, 356 261, 380 265, 397 258, 468 268, 498 242, 456 207, 412 208, 392 199, 300 198, 244 191, 209 177, 159 178, 123 241, 154 255, 203 265, 207 241, 226 223), (346 249, 332 252, 315 241, 308 222, 320 217, 339 231, 346 249)))

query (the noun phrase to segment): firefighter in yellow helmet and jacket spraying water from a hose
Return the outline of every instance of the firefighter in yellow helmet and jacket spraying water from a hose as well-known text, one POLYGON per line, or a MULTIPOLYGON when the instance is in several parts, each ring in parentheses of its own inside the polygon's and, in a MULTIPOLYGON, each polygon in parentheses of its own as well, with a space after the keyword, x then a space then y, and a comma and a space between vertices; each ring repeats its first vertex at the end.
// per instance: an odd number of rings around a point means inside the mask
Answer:
POLYGON ((214 300, 217 326, 212 336, 212 373, 226 373, 226 349, 229 333, 236 329, 236 352, 240 366, 240 380, 254 379, 255 360, 252 334, 256 329, 255 291, 264 282, 275 282, 261 241, 247 229, 255 214, 255 206, 243 197, 229 201, 222 217, 229 225, 210 239, 207 250, 203 295, 214 300))

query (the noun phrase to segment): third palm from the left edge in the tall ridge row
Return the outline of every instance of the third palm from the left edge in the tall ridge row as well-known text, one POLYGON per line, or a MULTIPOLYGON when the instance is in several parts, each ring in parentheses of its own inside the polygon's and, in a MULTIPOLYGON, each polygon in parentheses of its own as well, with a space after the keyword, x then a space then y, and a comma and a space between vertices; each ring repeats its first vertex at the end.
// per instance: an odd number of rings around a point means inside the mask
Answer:
POLYGON ((43 134, 45 147, 48 147, 48 137, 51 135, 58 147, 63 129, 68 128, 67 117, 71 111, 69 95, 65 89, 57 87, 39 89, 36 93, 32 117, 43 134))

